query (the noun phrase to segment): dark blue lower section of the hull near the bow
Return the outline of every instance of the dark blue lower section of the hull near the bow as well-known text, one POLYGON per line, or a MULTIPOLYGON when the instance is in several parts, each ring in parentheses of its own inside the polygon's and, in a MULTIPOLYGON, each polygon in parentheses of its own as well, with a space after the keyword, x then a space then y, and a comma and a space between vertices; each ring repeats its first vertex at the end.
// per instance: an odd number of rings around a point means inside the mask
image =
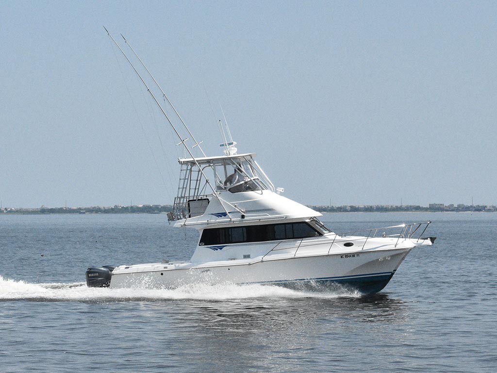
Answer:
POLYGON ((390 281, 393 272, 383 272, 367 275, 341 276, 341 277, 324 277, 317 279, 299 279, 299 280, 279 280, 261 282, 268 285, 278 285, 298 290, 330 290, 335 287, 337 290, 346 288, 358 290, 363 294, 371 295, 382 290, 390 281))

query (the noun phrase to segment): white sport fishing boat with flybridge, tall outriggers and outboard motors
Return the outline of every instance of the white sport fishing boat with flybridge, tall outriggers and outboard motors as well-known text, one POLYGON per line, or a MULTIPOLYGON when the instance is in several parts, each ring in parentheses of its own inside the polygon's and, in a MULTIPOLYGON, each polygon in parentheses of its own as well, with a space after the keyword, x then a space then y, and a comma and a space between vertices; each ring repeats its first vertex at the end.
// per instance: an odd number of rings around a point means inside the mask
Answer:
POLYGON ((229 282, 320 291, 338 286, 371 294, 385 287, 411 250, 432 245, 433 237, 422 238, 429 221, 332 232, 319 220, 321 213, 281 195, 284 190, 274 187, 254 153, 237 154, 227 127, 223 155, 193 156, 133 69, 190 156, 179 159, 178 191, 168 220, 175 227, 195 228, 199 239, 190 261, 92 267, 86 271, 88 286, 174 288, 229 282))

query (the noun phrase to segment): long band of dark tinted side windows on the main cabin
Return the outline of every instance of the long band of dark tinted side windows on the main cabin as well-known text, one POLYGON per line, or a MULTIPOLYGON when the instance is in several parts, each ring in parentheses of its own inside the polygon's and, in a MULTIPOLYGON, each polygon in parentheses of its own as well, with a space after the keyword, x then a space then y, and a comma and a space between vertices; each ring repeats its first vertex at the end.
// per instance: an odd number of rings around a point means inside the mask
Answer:
POLYGON ((291 240, 321 235, 321 232, 305 221, 297 223, 249 225, 245 227, 207 228, 202 232, 199 245, 291 240))

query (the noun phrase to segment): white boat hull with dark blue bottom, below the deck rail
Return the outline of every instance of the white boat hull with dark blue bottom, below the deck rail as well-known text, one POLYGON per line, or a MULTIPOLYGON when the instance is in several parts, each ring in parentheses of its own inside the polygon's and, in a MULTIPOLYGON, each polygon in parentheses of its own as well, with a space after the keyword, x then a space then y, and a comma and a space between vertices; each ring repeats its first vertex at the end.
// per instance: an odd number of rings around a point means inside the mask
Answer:
POLYGON ((141 266, 116 271, 110 287, 175 288, 192 283, 268 284, 305 290, 358 290, 372 294, 383 289, 412 248, 371 250, 346 254, 272 258, 251 263, 141 266))

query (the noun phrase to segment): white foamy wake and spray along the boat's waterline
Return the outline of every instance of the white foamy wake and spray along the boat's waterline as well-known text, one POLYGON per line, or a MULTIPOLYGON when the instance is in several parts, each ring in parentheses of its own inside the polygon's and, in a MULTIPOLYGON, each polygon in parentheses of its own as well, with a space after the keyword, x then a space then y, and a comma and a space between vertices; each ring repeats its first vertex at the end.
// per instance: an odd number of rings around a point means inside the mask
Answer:
POLYGON ((236 285, 202 283, 183 285, 175 289, 111 289, 87 287, 76 283, 30 283, 22 280, 4 279, 0 276, 0 299, 38 301, 133 301, 199 299, 230 300, 250 298, 337 298, 359 297, 359 292, 333 291, 310 292, 292 290, 280 286, 259 284, 236 285))

